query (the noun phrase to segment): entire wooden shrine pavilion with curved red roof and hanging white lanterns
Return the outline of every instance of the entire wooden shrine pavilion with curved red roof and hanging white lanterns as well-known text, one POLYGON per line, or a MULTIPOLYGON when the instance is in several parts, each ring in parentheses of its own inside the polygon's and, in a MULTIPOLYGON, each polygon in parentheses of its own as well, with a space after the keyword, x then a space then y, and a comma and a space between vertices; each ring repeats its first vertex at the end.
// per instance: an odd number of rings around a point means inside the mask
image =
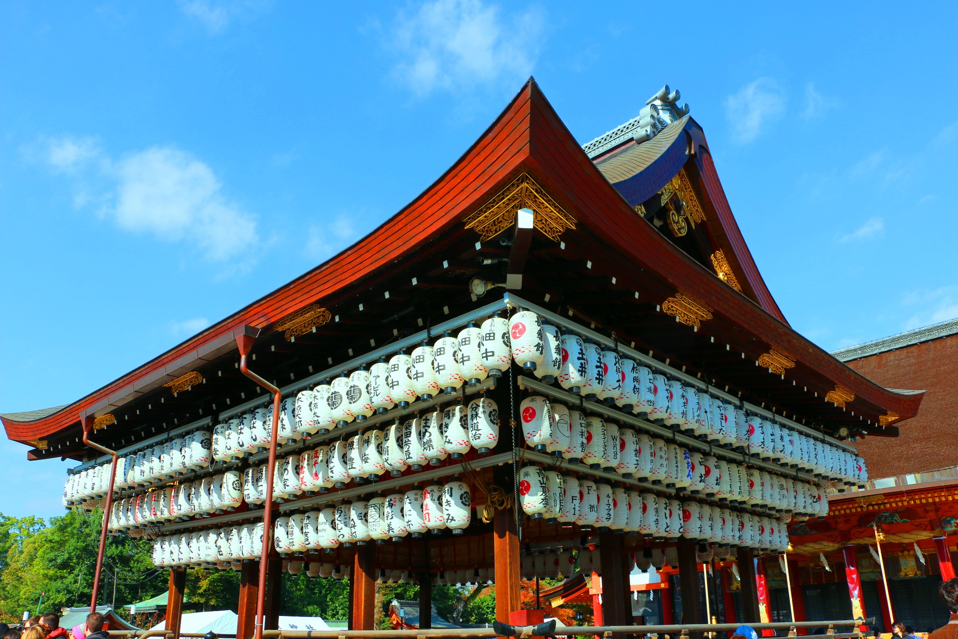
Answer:
POLYGON ((276 628, 284 571, 349 579, 354 629, 384 576, 424 586, 421 610, 430 584, 489 583, 504 622, 522 578, 564 577, 540 595, 584 584, 606 626, 757 623, 781 617, 776 566, 793 591, 831 583, 809 544, 863 538, 864 516, 825 530, 869 486, 856 446, 921 419, 923 393, 896 389, 926 386, 865 359, 790 328, 677 91, 581 145, 529 80, 362 240, 2 419, 30 459, 78 461, 66 507, 152 540, 170 628, 198 566, 240 573, 242 639, 258 610, 276 628))

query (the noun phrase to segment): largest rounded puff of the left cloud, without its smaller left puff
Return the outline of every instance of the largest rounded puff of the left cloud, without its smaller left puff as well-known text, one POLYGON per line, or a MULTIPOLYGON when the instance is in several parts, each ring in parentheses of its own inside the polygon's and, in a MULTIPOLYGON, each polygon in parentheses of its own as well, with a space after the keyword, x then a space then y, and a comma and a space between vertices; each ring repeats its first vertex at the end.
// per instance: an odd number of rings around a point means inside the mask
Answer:
POLYGON ((256 240, 256 221, 226 201, 208 166, 176 148, 154 147, 126 156, 116 167, 121 227, 164 240, 187 240, 211 260, 239 256, 256 240))

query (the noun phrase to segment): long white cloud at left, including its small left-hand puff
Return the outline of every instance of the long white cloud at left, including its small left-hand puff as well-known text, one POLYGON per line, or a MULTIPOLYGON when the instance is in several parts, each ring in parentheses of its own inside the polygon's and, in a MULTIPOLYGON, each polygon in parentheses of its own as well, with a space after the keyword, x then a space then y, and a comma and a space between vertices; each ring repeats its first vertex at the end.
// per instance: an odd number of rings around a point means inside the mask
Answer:
POLYGON ((117 161, 92 138, 70 136, 44 141, 42 149, 50 167, 74 176, 74 206, 99 203, 123 229, 186 241, 215 262, 259 240, 255 217, 228 201, 210 167, 185 151, 153 147, 117 161))

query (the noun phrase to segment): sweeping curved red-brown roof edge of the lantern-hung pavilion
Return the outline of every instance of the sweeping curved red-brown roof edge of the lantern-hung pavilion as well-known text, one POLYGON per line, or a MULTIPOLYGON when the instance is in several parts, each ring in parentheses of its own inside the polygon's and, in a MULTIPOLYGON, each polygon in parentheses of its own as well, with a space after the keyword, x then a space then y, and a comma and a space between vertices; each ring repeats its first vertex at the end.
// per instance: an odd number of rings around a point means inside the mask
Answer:
MULTIPOLYGON (((694 121, 686 120, 683 130, 689 130, 693 124, 694 121)), ((535 80, 530 80, 450 169, 365 238, 303 276, 84 398, 49 411, 3 416, 8 437, 20 442, 46 437, 62 429, 76 427, 81 417, 110 412, 139 399, 166 381, 213 362, 221 355, 235 353, 236 336, 243 331, 244 325, 266 328, 317 301, 329 306, 332 312, 344 312, 347 308, 352 308, 354 312, 354 300, 361 301, 357 296, 366 294, 364 291, 371 290, 372 284, 394 273, 400 260, 424 259, 427 249, 432 250, 429 247, 434 245, 433 242, 448 237, 450 233, 466 239, 471 231, 464 229, 463 218, 521 172, 534 177, 543 189, 577 218, 576 229, 566 231, 563 236, 562 259, 566 260, 569 268, 580 269, 575 275, 579 281, 587 274, 589 278, 601 278, 604 286, 611 282, 617 290, 625 293, 621 296, 622 304, 632 301, 631 291, 644 291, 643 299, 629 302, 635 306, 624 309, 624 314, 619 316, 623 321, 641 318, 638 330, 646 327, 652 332, 674 327, 674 323, 669 321, 671 317, 663 317, 662 313, 657 312, 657 305, 681 287, 683 293, 715 309, 708 325, 711 333, 718 334, 722 342, 727 341, 732 345, 733 352, 741 351, 743 359, 746 350, 757 359, 768 348, 775 348, 794 359, 796 367, 789 370, 787 380, 784 377, 778 380, 778 376, 767 376, 761 384, 764 389, 762 392, 772 393, 773 397, 781 399, 782 405, 794 400, 800 402, 801 406, 813 405, 818 413, 823 413, 827 408, 831 411, 828 413, 829 419, 847 420, 843 409, 833 410, 831 404, 822 404, 824 393, 840 384, 855 394, 854 403, 849 403, 858 414, 854 418, 855 423, 858 416, 878 422, 878 416, 887 411, 899 414, 902 419, 914 416, 921 398, 899 395, 878 386, 785 324, 764 288, 754 262, 751 262, 738 226, 721 193, 704 136, 700 135, 697 125, 695 127, 690 135, 696 143, 696 167, 701 174, 705 204, 720 221, 716 237, 725 237, 726 244, 736 247, 737 257, 733 257, 741 264, 746 278, 752 278, 753 287, 761 284, 764 293, 759 291, 762 294, 756 294, 755 300, 725 285, 712 270, 693 260, 650 223, 636 217, 627 200, 582 151, 542 95, 535 80), (577 262, 569 262, 573 251, 577 251, 577 262), (588 270, 582 270, 585 268, 584 259, 578 262, 578 256, 584 255, 591 256, 588 270), (749 268, 754 270, 753 275, 750 275, 749 268), (346 301, 349 307, 343 306, 346 301), (797 390, 794 388, 796 380, 799 381, 797 390), (805 391, 801 390, 803 385, 805 391), (813 390, 821 395, 815 395, 812 399, 813 390)), ((665 146, 665 149, 658 157, 671 157, 674 144, 677 144, 675 141, 682 137, 676 135, 673 144, 668 146, 666 143, 669 138, 663 138, 660 146, 665 146)), ((624 152, 633 151, 625 149, 624 152)), ((639 159, 630 161, 640 162, 639 159)), ((648 166, 653 166, 655 161, 653 159, 648 166)), ((623 159, 622 166, 625 164, 623 159)), ((475 236, 472 235, 471 240, 468 240, 469 245, 474 241, 475 236)), ((436 259, 435 254, 432 259, 436 259)), ((574 281, 569 280, 567 284, 574 284, 574 281)), ((456 290, 459 290, 458 286, 456 290)), ((378 291, 376 295, 381 301, 382 292, 378 291)), ((688 334, 683 332, 682 340, 691 343, 693 338, 701 341, 706 337, 701 332, 695 336, 690 330, 688 334)), ((299 344, 296 346, 299 347, 299 344)), ((701 348, 705 348, 705 344, 701 348)), ((723 352, 726 350, 722 349, 723 352)), ((718 367, 719 354, 710 356, 714 357, 718 367)), ((736 357, 721 366, 741 366, 741 362, 735 363, 738 361, 736 357)), ((745 373, 741 372, 741 375, 745 373)), ((800 407, 799 410, 804 408, 800 407)))

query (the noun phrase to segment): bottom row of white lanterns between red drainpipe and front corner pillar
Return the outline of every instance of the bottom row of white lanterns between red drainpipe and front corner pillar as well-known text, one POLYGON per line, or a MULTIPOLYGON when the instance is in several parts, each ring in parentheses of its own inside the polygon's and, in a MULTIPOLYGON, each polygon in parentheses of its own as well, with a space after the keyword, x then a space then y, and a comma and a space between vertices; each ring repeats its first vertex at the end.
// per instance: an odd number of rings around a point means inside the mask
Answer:
POLYGON ((399 541, 404 536, 422 536, 444 528, 451 529, 453 535, 461 535, 470 521, 468 485, 454 478, 445 486, 414 486, 409 491, 380 495, 369 501, 344 501, 320 511, 280 517, 276 520, 274 539, 277 552, 296 555, 340 544, 399 541))

